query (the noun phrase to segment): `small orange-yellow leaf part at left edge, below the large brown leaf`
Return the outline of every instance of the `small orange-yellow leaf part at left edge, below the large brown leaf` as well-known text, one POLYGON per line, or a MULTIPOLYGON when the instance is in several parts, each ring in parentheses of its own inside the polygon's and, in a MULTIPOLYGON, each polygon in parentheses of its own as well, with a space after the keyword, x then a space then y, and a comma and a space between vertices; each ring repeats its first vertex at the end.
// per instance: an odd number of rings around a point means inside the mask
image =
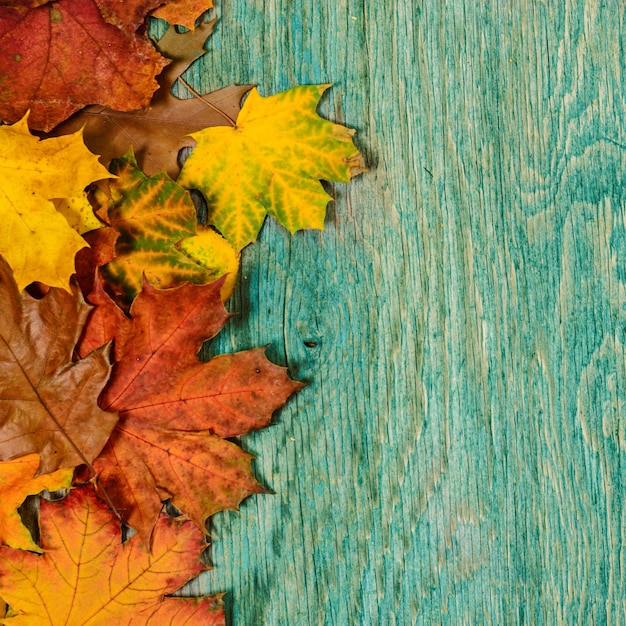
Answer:
POLYGON ((0 463, 0 544, 16 550, 41 552, 17 511, 26 496, 47 489, 57 491, 72 485, 73 468, 37 476, 39 455, 28 454, 0 463))

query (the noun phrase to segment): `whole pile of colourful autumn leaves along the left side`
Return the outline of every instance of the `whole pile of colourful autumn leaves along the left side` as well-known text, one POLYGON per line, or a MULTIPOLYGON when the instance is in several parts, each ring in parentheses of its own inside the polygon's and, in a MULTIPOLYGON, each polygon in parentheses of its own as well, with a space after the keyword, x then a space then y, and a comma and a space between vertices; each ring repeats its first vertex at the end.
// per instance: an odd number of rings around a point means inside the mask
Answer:
POLYGON ((224 623, 168 594, 207 569, 207 518, 264 490, 229 439, 302 385, 262 348, 197 354, 266 216, 323 228, 320 180, 363 162, 328 85, 172 95, 210 6, 0 0, 2 624, 224 623), (153 45, 149 14, 191 30, 153 45), (42 491, 64 497, 28 529, 42 491))

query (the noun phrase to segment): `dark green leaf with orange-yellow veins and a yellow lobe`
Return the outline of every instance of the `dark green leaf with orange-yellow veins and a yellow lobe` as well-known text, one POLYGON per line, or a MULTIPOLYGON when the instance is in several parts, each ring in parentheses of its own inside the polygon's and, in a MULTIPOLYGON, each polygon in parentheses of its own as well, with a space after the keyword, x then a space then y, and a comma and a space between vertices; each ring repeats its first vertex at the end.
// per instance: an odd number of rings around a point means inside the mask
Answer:
POLYGON ((224 295, 234 286, 239 259, 215 231, 196 230, 196 210, 186 189, 165 173, 148 178, 132 153, 116 159, 111 171, 108 220, 120 233, 115 258, 103 276, 123 302, 141 291, 143 276, 159 288, 182 282, 206 284, 230 273, 224 295))

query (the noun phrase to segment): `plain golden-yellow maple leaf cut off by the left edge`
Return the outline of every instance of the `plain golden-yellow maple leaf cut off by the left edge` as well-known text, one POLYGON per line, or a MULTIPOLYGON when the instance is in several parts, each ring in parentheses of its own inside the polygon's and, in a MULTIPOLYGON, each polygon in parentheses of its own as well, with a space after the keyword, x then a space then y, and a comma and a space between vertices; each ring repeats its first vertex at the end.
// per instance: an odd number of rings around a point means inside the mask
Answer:
POLYGON ((0 126, 0 254, 20 290, 36 280, 69 289, 74 255, 87 244, 51 200, 84 195, 92 181, 110 177, 80 131, 41 141, 26 118, 0 126))

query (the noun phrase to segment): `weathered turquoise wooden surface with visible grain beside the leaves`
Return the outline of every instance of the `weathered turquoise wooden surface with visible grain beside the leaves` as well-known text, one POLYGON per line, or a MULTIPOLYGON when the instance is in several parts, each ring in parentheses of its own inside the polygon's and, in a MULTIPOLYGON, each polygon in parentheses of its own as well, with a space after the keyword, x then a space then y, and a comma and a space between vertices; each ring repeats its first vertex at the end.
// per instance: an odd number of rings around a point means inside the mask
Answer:
POLYGON ((244 255, 212 351, 310 384, 194 590, 238 626, 626 623, 623 3, 218 13, 188 80, 334 82, 371 171, 244 255))

